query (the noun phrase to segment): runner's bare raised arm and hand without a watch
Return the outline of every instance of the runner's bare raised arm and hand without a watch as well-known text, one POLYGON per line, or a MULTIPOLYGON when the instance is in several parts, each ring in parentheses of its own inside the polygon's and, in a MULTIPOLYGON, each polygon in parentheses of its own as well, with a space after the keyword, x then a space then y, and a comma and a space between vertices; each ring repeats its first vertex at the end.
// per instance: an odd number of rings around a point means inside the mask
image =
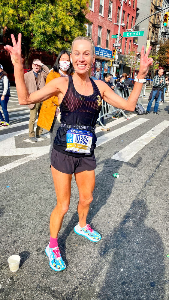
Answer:
POLYGON ((18 41, 16 43, 14 35, 11 35, 13 47, 6 45, 4 48, 10 53, 11 60, 14 65, 15 83, 17 88, 19 104, 32 104, 38 103, 48 98, 58 95, 60 92, 59 87, 66 85, 65 78, 56 78, 51 80, 47 85, 34 93, 29 94, 24 80, 24 72, 21 58, 21 34, 18 35, 18 41))

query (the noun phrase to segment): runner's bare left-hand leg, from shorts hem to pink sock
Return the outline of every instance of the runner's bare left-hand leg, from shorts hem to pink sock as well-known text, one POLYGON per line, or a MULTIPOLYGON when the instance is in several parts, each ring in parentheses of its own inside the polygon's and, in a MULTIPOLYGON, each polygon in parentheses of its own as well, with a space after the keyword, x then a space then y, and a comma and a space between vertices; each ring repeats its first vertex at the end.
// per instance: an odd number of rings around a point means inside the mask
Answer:
POLYGON ((69 209, 72 174, 62 173, 51 166, 57 205, 51 213, 50 232, 52 238, 57 238, 63 218, 69 209))

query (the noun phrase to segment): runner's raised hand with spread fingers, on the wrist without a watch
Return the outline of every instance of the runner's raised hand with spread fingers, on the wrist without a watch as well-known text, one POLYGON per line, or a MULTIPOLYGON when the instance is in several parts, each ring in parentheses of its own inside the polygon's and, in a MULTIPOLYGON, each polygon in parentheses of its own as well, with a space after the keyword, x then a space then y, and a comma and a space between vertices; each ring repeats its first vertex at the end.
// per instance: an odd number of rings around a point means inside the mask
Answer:
POLYGON ((6 45, 4 48, 6 51, 9 52, 11 55, 11 61, 13 65, 22 64, 22 57, 21 57, 21 33, 18 35, 18 41, 16 42, 14 35, 11 35, 13 47, 10 45, 6 45))

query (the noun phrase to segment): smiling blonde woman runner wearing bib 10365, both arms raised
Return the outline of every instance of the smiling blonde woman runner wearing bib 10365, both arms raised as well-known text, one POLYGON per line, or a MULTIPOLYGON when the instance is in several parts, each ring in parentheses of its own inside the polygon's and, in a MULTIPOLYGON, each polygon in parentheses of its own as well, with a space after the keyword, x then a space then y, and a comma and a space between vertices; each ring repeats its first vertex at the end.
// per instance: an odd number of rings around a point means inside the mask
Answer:
POLYGON ((109 86, 101 81, 89 78, 91 64, 95 61, 94 42, 90 37, 77 37, 72 43, 71 60, 75 69, 73 76, 59 77, 51 80, 45 87, 29 94, 25 85, 21 59, 21 34, 16 43, 11 35, 13 47, 5 49, 10 53, 14 65, 15 82, 21 105, 38 103, 57 95, 60 104, 61 126, 54 140, 51 155, 51 170, 57 195, 57 205, 51 213, 51 238, 46 247, 49 264, 53 270, 66 268, 61 257, 57 235, 62 226, 63 218, 69 209, 71 180, 74 173, 79 191, 79 221, 74 230, 93 242, 101 239, 101 235, 86 223, 90 203, 93 200, 95 185, 94 169, 96 161, 94 149, 96 135, 94 133, 97 116, 102 105, 102 98, 112 106, 122 110, 134 111, 139 98, 144 77, 153 59, 148 58, 151 47, 144 55, 141 50, 140 70, 137 81, 128 101, 116 95, 109 86))

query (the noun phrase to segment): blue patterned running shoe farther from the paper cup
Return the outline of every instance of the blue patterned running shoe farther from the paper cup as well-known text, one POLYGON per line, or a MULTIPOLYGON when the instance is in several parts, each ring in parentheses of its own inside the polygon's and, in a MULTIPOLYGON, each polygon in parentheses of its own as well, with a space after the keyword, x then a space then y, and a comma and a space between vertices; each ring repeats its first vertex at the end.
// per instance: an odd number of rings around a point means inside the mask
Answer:
POLYGON ((97 231, 93 230, 89 224, 86 224, 83 228, 79 227, 77 224, 74 227, 74 231, 79 235, 85 236, 92 242, 98 242, 101 240, 101 235, 97 231))

